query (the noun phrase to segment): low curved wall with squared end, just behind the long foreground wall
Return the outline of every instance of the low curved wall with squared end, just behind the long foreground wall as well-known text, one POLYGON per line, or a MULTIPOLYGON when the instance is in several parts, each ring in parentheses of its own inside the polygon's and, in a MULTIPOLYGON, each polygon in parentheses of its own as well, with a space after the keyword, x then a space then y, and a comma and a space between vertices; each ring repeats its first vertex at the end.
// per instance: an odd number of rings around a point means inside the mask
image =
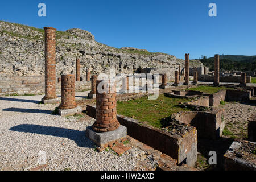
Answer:
POLYGON ((224 110, 189 111, 174 114, 178 121, 196 127, 200 138, 218 139, 224 130, 224 110))

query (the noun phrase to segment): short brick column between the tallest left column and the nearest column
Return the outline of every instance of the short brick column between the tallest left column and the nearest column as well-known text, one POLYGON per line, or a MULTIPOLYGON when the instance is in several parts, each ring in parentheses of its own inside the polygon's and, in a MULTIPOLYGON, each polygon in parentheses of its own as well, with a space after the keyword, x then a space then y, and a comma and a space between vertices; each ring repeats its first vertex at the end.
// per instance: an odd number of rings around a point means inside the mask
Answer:
POLYGON ((75 101, 75 75, 61 75, 61 104, 59 109, 77 107, 75 101))

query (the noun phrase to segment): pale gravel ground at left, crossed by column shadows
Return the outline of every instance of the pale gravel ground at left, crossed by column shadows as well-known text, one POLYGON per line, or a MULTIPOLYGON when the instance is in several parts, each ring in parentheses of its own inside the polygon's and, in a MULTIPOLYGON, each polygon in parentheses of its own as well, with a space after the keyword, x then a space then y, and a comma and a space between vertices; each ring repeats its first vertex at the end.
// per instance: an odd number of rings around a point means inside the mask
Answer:
MULTIPOLYGON (((77 93, 77 99, 88 92, 77 93)), ((112 151, 96 152, 94 143, 85 137, 86 126, 93 118, 53 115, 58 105, 38 104, 43 96, 0 97, 0 169, 29 170, 133 170, 139 160, 155 165, 148 156, 134 158, 112 151), (39 164, 46 154, 46 165, 39 164)))

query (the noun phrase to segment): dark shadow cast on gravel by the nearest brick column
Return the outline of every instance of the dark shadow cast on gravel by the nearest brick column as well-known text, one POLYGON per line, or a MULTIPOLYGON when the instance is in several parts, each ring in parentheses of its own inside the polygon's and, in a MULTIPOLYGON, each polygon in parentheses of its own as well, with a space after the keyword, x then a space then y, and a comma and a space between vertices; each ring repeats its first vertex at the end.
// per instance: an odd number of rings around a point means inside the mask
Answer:
POLYGON ((28 124, 14 126, 11 127, 9 130, 24 133, 34 133, 39 135, 50 135, 53 137, 68 138, 75 141, 77 146, 79 147, 94 148, 93 142, 86 137, 85 131, 28 124))

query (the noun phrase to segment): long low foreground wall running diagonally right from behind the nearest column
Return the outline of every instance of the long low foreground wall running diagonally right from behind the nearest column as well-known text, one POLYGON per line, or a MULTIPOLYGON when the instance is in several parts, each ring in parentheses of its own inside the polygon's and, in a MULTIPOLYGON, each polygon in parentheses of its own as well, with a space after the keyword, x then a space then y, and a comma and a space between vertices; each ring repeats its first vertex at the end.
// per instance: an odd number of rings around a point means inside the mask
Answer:
MULTIPOLYGON (((87 106, 86 113, 95 118, 96 107, 87 106)), ((183 133, 171 134, 166 130, 160 130, 145 125, 133 118, 117 114, 121 125, 127 127, 127 134, 140 142, 147 144, 177 159, 177 163, 185 163, 189 167, 195 167, 197 160, 197 131, 192 126, 183 127, 183 133)))

